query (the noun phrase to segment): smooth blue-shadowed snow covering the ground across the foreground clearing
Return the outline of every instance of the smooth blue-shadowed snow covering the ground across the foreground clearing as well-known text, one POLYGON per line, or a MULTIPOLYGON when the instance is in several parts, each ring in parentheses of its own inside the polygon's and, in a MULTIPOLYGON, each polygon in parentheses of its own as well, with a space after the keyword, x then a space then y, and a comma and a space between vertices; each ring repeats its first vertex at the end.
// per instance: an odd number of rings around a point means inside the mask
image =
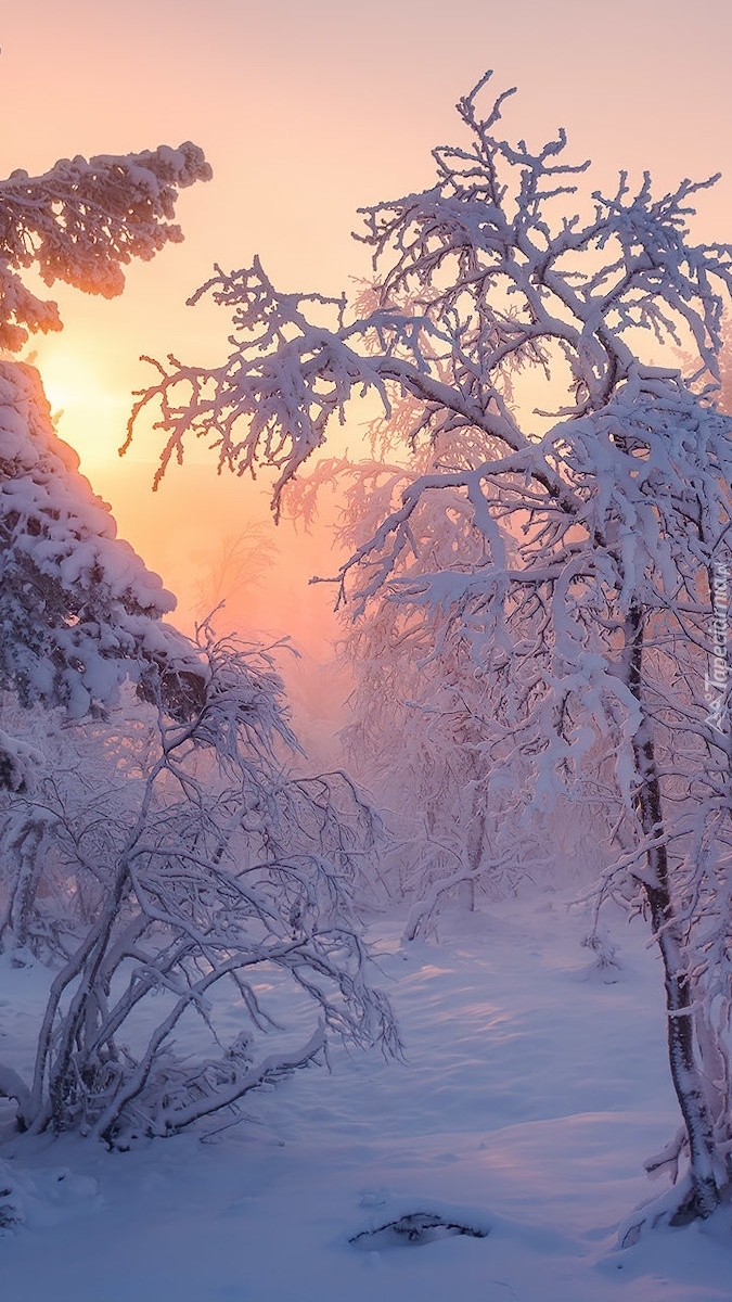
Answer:
MULTIPOLYGON (((663 1189, 642 1161, 677 1111, 642 924, 612 917, 613 982, 593 970, 586 931, 556 896, 453 914, 439 944, 400 947, 383 924, 404 1064, 336 1048, 330 1074, 250 1095, 247 1120, 204 1142, 8 1144, 0 1207, 25 1221, 0 1237, 0 1297, 729 1302, 729 1208, 616 1249, 619 1221, 663 1189), (487 1233, 349 1242, 435 1211, 487 1233)), ((0 969, 5 1065, 27 1062, 43 979, 0 969)))

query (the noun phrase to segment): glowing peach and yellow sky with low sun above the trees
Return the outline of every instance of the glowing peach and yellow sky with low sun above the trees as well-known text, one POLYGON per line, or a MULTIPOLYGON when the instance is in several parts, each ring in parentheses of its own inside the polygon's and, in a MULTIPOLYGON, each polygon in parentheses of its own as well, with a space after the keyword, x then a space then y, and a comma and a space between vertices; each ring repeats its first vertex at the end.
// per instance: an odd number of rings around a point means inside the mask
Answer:
MULTIPOLYGON (((565 126, 595 187, 620 168, 659 187, 725 173, 697 229, 732 241, 728 0, 35 0, 4 7, 0 44, 3 174, 184 139, 214 167, 180 199, 184 245, 132 267, 119 301, 59 286, 64 333, 34 345, 63 436, 159 568, 178 549, 176 513, 190 531, 186 492, 203 477, 215 503, 218 486, 190 465, 151 499, 142 467, 116 458, 139 354, 216 357, 223 315, 184 306, 215 260, 258 253, 285 289, 365 275, 356 208, 429 184, 430 148, 456 139, 455 102, 486 68, 520 91, 507 133, 541 143, 565 126)), ((141 436, 133 456, 154 454, 141 436)), ((237 487, 220 499, 234 517, 237 487)))

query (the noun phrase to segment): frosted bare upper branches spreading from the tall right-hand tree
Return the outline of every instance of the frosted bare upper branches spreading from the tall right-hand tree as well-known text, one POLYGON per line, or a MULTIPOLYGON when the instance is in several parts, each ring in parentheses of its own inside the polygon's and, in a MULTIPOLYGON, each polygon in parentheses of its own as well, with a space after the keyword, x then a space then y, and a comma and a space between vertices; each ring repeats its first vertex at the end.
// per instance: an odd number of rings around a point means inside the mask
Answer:
MULTIPOLYGON (((435 185, 361 210, 357 238, 373 249, 376 276, 365 314, 362 293, 350 307, 344 297, 279 293, 258 259, 216 268, 193 296, 212 293, 231 311, 231 352, 208 368, 154 363, 159 378, 141 391, 129 437, 156 405, 159 477, 190 435, 206 437, 220 466, 276 471, 279 513, 283 487, 367 391, 387 417, 402 395, 414 397, 415 428, 468 426, 526 448, 512 370, 548 370, 559 350, 572 392, 565 414, 591 414, 637 371, 638 326, 668 340, 690 332, 699 374, 715 379, 716 290, 732 283, 732 246, 688 243, 688 201, 699 186, 683 182, 655 201, 647 178, 630 194, 623 177, 611 198, 593 194, 594 216, 582 219, 568 201, 587 164, 565 160, 564 133, 535 152, 499 139, 505 95, 481 117, 486 82, 458 105, 469 146, 435 151, 435 185)), ((528 473, 561 492, 548 470, 528 473)))

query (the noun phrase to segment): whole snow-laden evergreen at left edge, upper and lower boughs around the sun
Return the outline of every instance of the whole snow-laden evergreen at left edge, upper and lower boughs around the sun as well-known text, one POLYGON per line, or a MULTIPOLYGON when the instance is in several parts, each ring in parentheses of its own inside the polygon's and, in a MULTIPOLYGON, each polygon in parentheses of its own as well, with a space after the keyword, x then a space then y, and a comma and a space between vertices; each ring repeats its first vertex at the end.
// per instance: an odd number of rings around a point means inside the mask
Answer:
MULTIPOLYGON (((0 181, 0 346, 13 352, 30 331, 61 328, 56 303, 23 285, 26 268, 47 284, 121 293, 132 258, 182 238, 171 223, 177 191, 210 176, 186 143, 0 181)), ((53 431, 38 372, 9 359, 0 362, 0 689, 23 703, 79 717, 128 673, 178 710, 199 693, 195 655, 163 622, 175 599, 116 538, 109 509, 53 431)), ((12 785, 17 764, 3 754, 0 779, 12 785)))

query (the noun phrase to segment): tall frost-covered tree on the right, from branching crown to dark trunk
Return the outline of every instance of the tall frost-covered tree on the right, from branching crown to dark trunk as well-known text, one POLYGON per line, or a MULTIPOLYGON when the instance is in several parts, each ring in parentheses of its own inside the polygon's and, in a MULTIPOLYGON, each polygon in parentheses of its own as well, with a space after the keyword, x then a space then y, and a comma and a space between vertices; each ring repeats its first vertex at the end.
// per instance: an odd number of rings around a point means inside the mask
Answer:
POLYGON ((431 189, 363 210, 376 307, 281 294, 259 262, 218 271, 204 288, 233 309, 228 359, 159 366, 137 410, 160 404, 164 462, 188 431, 207 431, 221 465, 274 466, 275 509, 357 395, 387 415, 410 395, 414 444, 466 430, 492 440, 481 465, 445 456, 402 491, 344 565, 341 592, 357 612, 386 594, 447 617, 492 677, 494 745, 538 807, 590 762, 602 779, 595 799, 620 848, 606 884, 636 883, 663 960, 690 1155, 669 1213, 707 1216, 732 1174, 732 422, 714 402, 732 247, 689 236, 711 182, 655 198, 647 174, 637 190, 623 174, 577 214, 587 164, 565 161, 564 133, 535 152, 501 139, 505 96, 482 117, 483 86, 458 104, 466 142, 435 150, 431 189), (689 379, 671 349, 658 365, 667 341, 696 350, 689 379), (529 365, 569 389, 559 410, 518 405, 529 365), (485 556, 399 574, 430 546, 413 527, 419 504, 456 492, 485 556))

